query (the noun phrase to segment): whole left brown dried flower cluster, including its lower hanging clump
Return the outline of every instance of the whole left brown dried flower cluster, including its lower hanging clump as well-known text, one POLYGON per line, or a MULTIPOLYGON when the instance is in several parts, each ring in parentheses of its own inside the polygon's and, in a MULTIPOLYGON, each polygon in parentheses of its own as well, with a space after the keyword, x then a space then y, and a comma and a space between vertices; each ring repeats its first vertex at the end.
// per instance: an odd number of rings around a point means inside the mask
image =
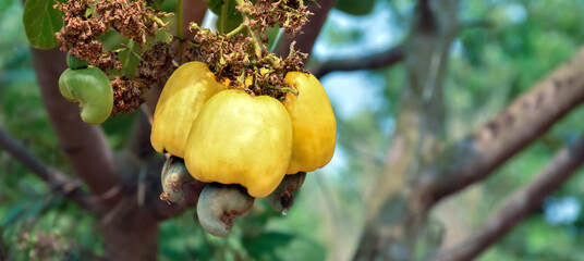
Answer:
MULTIPOLYGON (((104 50, 97 39, 99 36, 112 28, 144 47, 147 37, 154 37, 159 28, 165 27, 160 17, 169 15, 154 11, 144 0, 70 0, 57 3, 54 8, 63 12, 64 26, 56 34, 61 49, 87 60, 104 72, 109 72, 108 69, 120 71, 122 66, 115 57, 117 51, 104 50)), ((168 44, 155 42, 143 53, 134 79, 114 76, 111 80, 115 98, 112 115, 138 108, 144 102, 146 90, 168 77, 172 57, 168 44)))

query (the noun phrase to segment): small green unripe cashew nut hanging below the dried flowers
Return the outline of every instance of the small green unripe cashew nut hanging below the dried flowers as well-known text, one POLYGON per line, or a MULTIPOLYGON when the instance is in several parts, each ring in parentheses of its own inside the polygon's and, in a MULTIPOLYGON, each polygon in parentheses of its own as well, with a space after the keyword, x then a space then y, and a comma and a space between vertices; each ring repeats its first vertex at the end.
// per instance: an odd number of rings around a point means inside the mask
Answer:
POLYGON ((59 78, 59 90, 69 101, 80 102, 81 119, 90 124, 100 124, 111 114, 113 89, 106 73, 88 66, 68 69, 59 78))

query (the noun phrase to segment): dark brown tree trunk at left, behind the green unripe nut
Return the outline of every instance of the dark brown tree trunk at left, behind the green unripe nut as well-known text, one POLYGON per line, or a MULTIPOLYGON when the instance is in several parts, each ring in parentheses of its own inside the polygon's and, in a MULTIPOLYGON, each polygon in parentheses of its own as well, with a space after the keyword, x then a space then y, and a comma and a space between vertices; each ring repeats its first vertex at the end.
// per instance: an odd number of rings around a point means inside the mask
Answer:
POLYGON ((33 49, 42 100, 61 148, 75 173, 88 185, 100 213, 106 256, 109 260, 156 260, 158 220, 124 188, 115 156, 99 126, 85 124, 77 104, 59 94, 58 79, 66 67, 64 52, 33 49))

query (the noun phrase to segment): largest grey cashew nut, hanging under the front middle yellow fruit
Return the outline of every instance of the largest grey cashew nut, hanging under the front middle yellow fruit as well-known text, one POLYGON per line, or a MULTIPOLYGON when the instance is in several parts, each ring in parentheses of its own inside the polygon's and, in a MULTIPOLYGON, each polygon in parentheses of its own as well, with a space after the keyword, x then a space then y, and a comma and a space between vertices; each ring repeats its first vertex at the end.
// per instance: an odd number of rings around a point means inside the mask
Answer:
POLYGON ((198 198, 198 221, 209 234, 223 237, 231 232, 233 217, 246 215, 253 204, 254 198, 243 187, 211 183, 198 198))

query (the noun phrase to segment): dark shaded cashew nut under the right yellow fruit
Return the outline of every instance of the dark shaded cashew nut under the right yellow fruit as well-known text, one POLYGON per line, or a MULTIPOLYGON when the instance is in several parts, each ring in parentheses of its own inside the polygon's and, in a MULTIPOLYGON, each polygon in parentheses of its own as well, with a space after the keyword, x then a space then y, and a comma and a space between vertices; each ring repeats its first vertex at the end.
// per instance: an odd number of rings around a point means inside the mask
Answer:
POLYGON ((300 189, 305 178, 306 172, 285 175, 276 190, 266 197, 271 208, 285 215, 288 210, 294 204, 294 192, 300 189))

